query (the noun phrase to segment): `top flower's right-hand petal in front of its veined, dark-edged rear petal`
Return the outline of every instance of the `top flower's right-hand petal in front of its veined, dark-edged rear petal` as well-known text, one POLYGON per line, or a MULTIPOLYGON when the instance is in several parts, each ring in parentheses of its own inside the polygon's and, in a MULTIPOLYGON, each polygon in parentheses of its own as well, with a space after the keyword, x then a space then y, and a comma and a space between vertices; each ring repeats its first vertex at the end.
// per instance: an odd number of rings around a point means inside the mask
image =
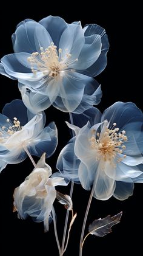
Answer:
POLYGON ((98 57, 101 54, 101 47, 100 35, 85 36, 85 44, 79 54, 78 61, 73 63, 71 67, 78 70, 87 69, 98 60, 98 57))

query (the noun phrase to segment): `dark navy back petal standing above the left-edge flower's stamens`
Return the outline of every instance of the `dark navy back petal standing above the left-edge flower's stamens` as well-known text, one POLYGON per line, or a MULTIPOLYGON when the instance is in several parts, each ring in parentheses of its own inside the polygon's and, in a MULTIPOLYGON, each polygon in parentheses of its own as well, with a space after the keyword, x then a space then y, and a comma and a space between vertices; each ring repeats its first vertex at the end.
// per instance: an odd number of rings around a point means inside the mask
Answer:
POLYGON ((13 100, 10 103, 7 103, 2 113, 13 122, 13 118, 16 117, 20 122, 21 125, 24 126, 25 123, 28 122, 27 119, 27 108, 25 107, 22 100, 13 100))

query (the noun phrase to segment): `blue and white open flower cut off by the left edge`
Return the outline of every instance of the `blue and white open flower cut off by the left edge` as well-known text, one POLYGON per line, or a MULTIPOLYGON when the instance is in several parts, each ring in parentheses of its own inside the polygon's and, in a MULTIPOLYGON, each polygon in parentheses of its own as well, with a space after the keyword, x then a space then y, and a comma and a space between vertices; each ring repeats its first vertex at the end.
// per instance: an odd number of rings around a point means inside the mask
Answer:
POLYGON ((4 106, 0 114, 0 171, 7 164, 17 164, 30 154, 51 156, 58 144, 57 128, 54 122, 47 127, 45 114, 33 115, 27 111, 22 100, 13 100, 4 106))

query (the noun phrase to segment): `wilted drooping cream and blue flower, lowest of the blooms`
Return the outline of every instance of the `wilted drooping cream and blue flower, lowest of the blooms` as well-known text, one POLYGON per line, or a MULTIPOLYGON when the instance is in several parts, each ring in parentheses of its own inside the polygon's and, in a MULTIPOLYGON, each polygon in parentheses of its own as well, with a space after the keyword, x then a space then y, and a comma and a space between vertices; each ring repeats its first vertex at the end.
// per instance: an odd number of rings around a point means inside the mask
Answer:
POLYGON ((57 185, 67 185, 63 178, 52 178, 52 169, 45 163, 45 154, 38 161, 36 168, 28 175, 19 187, 16 187, 13 212, 25 220, 32 216, 33 221, 44 221, 45 232, 54 213, 53 202, 56 199, 57 185))

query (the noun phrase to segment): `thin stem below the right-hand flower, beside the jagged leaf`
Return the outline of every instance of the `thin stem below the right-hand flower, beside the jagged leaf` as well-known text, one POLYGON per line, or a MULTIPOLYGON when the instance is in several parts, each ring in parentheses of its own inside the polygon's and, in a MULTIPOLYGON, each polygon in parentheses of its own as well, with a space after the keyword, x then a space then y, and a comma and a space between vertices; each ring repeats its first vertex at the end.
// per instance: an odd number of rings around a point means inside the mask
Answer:
POLYGON ((89 212, 89 209, 90 209, 90 204, 91 204, 91 201, 92 201, 92 198, 93 198, 94 190, 95 190, 95 185, 93 184, 93 187, 92 187, 92 190, 91 190, 91 193, 90 193, 90 198, 89 198, 88 204, 87 204, 87 210, 86 210, 85 216, 84 216, 84 222, 83 222, 83 225, 82 225, 81 240, 80 240, 80 245, 79 245, 79 256, 82 256, 82 246, 84 244, 83 238, 84 238, 85 224, 87 222, 87 216, 88 216, 88 212, 89 212))

